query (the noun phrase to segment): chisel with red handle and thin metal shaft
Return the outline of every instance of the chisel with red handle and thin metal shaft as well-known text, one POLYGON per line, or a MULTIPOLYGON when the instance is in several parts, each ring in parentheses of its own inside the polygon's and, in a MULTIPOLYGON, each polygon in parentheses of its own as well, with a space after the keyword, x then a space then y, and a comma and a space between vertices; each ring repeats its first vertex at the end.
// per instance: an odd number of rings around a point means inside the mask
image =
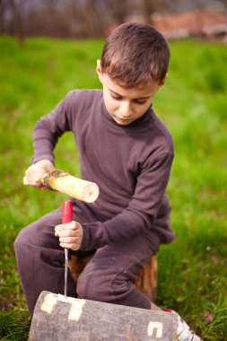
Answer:
MULTIPOLYGON (((73 220, 73 206, 71 200, 65 200, 62 207, 62 223, 71 223, 73 220)), ((64 294, 67 296, 68 283, 68 249, 65 249, 65 286, 64 294)))

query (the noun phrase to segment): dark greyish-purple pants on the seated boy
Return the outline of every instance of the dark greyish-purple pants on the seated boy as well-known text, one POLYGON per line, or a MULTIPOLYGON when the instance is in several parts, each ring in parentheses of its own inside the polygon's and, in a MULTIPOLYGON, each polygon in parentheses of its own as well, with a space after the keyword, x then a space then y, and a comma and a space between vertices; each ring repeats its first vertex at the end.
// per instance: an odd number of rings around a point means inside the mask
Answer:
MULTIPOLYGON (((74 220, 84 222, 83 219, 74 214, 74 220)), ((43 290, 64 293, 65 254, 54 235, 54 228, 59 223, 61 209, 24 228, 14 243, 31 316, 43 290)), ((147 232, 97 249, 76 287, 69 274, 68 296, 150 309, 151 302, 135 287, 134 281, 139 267, 158 251, 159 245, 157 235, 147 232)))

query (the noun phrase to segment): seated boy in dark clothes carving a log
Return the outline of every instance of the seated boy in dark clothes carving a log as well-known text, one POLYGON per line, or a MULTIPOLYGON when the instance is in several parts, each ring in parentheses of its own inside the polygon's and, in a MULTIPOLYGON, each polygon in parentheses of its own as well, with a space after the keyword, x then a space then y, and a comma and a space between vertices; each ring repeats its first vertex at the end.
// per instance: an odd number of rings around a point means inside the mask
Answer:
MULTIPOLYGON (((32 315, 39 293, 63 293, 64 250, 96 250, 68 294, 144 309, 155 305, 134 284, 138 268, 174 239, 165 193, 173 160, 168 128, 152 107, 165 83, 170 50, 150 25, 126 23, 109 36, 97 62, 103 91, 69 92, 34 129, 34 156, 25 178, 54 170, 57 138, 72 131, 83 179, 96 182, 93 204, 74 200, 74 221, 61 224, 61 209, 22 230, 15 251, 32 315)), ((158 309, 158 308, 157 308, 158 309)), ((181 340, 199 339, 180 322, 181 340)))

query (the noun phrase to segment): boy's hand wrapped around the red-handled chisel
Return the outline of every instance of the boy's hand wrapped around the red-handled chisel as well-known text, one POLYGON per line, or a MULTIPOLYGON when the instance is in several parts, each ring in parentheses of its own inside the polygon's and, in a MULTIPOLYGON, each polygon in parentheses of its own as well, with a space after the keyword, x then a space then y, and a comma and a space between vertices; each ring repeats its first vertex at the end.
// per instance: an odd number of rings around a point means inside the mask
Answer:
POLYGON ((59 237, 60 246, 64 249, 80 249, 83 240, 81 223, 62 223, 55 227, 55 235, 59 237))

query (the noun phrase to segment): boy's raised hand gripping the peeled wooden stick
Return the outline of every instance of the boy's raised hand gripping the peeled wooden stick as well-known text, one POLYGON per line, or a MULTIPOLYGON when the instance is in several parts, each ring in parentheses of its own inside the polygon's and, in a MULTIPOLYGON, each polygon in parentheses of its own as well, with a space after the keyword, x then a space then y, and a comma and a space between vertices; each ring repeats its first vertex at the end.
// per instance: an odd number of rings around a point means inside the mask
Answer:
POLYGON ((41 178, 45 173, 55 170, 55 166, 49 160, 41 160, 32 164, 23 177, 23 184, 30 185, 39 189, 46 187, 41 183, 41 178))

